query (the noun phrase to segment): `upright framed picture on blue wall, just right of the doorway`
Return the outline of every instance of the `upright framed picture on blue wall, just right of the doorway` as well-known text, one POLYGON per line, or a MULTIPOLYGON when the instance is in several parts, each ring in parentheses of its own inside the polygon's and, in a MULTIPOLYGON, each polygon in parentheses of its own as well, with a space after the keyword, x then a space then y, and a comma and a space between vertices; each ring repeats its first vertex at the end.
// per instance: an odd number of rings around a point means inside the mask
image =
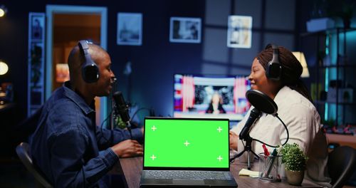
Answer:
POLYGON ((117 44, 142 45, 142 14, 117 14, 117 44))

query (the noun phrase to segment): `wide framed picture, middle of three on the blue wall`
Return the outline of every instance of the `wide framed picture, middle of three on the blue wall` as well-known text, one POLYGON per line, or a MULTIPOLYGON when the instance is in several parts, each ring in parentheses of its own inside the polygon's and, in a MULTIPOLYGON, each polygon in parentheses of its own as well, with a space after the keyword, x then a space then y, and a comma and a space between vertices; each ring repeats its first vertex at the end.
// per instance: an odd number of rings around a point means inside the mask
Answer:
POLYGON ((171 17, 169 41, 172 43, 200 43, 201 19, 171 17))

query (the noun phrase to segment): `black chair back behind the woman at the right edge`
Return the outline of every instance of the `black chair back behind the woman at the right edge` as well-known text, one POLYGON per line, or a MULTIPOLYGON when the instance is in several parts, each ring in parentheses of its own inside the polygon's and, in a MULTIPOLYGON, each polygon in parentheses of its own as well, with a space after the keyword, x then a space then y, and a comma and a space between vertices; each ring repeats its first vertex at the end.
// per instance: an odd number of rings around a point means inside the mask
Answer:
POLYGON ((348 146, 336 147, 329 154, 328 171, 333 187, 342 187, 356 169, 356 150, 348 146))

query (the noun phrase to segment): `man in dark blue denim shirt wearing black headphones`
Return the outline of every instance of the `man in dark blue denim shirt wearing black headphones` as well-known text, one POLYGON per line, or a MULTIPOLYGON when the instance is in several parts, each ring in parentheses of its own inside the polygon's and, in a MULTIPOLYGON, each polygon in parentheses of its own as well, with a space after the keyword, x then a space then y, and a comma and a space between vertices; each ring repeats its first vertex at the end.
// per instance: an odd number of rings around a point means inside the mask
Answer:
POLYGON ((103 177, 119 157, 142 155, 142 130, 100 130, 95 96, 108 96, 115 82, 109 54, 79 41, 68 57, 70 81, 53 92, 31 137, 33 163, 54 187, 108 187, 103 177))

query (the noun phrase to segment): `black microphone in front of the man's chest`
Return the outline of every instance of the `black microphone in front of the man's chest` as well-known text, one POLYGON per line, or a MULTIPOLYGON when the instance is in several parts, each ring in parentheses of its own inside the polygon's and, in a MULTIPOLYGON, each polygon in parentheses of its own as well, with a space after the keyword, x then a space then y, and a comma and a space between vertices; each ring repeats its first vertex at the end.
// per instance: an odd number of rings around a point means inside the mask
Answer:
POLYGON ((130 132, 130 137, 132 138, 131 133, 131 124, 130 124, 130 115, 128 112, 129 106, 125 103, 124 96, 121 91, 117 91, 112 95, 115 102, 115 114, 120 115, 121 120, 125 122, 127 130, 130 132))

